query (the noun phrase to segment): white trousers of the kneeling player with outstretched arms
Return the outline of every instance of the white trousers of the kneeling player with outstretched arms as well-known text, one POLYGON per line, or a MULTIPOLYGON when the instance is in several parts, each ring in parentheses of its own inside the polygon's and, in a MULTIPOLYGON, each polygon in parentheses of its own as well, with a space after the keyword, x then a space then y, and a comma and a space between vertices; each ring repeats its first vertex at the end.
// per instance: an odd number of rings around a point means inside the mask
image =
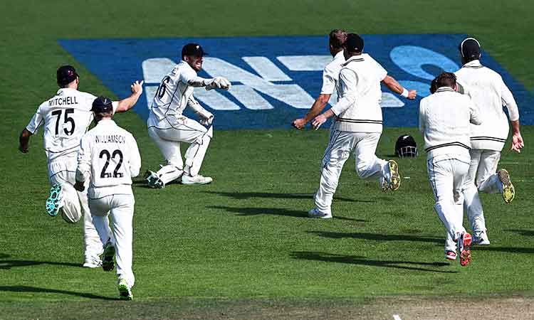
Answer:
POLYGON ((164 166, 161 172, 158 171, 158 176, 164 183, 181 176, 184 169, 190 176, 199 174, 209 142, 213 137, 212 126, 206 128, 199 122, 183 116, 167 116, 158 121, 152 113, 147 120, 147 126, 148 135, 167 160, 167 166, 164 166), (191 144, 185 153, 185 168, 180 154, 180 142, 191 144))

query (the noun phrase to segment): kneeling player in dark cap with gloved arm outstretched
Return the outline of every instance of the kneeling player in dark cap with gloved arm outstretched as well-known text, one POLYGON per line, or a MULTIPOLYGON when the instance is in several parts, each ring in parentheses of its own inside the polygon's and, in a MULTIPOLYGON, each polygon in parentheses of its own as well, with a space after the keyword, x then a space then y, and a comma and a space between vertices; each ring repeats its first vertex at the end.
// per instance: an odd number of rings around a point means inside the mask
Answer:
POLYGON ((147 120, 148 134, 162 151, 167 165, 157 172, 147 171, 148 185, 163 188, 181 178, 184 184, 206 184, 213 181, 199 174, 200 166, 213 137, 214 115, 205 110, 193 97, 194 87, 206 90, 229 90, 225 78, 204 79, 197 75, 202 68, 204 49, 197 43, 182 48, 182 61, 159 84, 147 120), (185 107, 191 107, 200 117, 200 123, 185 117, 185 107), (189 145, 185 153, 185 166, 180 154, 180 142, 189 145))

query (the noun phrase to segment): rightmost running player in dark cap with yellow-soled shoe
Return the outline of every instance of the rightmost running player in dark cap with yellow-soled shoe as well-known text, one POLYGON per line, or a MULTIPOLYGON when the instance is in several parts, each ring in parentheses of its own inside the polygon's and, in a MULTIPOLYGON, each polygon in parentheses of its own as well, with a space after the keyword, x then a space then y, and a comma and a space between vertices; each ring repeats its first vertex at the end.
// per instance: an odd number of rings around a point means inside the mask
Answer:
MULTIPOLYGON (((508 119, 503 105, 508 109, 512 126, 512 150, 520 152, 523 137, 520 133, 518 106, 512 92, 503 82, 501 75, 481 65, 481 46, 475 38, 466 38, 459 45, 462 68, 456 71, 459 90, 466 93, 478 106, 482 124, 471 125, 471 165, 466 186, 464 186, 464 206, 473 230, 473 242, 489 245, 486 233, 482 203, 478 191, 501 193, 505 203, 515 196, 510 175, 505 169, 497 171, 501 151, 508 138, 508 119)), ((446 250, 454 251, 455 243, 446 242, 446 250)))

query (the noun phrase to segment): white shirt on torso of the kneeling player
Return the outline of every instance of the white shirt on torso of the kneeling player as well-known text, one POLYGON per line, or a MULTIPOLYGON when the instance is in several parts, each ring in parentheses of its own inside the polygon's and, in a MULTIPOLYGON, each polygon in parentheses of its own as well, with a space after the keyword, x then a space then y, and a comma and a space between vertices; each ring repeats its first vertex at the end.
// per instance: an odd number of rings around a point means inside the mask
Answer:
POLYGON ((164 119, 167 115, 182 115, 187 100, 193 94, 193 87, 188 85, 188 81, 196 75, 189 64, 182 61, 164 76, 151 106, 152 113, 158 120, 164 119))

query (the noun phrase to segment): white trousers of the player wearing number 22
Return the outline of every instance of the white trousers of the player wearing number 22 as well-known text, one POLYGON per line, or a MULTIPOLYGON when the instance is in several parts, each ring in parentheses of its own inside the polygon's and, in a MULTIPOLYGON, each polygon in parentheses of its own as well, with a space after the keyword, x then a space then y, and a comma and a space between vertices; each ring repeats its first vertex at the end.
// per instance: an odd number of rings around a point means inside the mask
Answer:
POLYGON ((116 194, 98 199, 89 199, 89 208, 93 215, 93 222, 100 235, 100 240, 108 240, 115 245, 117 260, 117 275, 126 279, 133 287, 135 277, 132 271, 132 241, 133 241, 133 212, 135 199, 133 194, 116 194), (108 215, 112 218, 112 233, 108 215))

